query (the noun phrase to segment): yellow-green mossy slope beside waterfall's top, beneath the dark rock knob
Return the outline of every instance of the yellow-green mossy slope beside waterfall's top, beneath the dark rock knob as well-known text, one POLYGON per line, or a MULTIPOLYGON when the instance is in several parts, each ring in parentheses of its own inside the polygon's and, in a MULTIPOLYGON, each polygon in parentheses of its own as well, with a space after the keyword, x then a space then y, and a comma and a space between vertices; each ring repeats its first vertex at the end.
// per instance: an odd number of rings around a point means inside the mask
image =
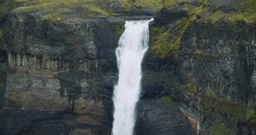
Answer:
POLYGON ((176 59, 178 59, 178 49, 181 43, 181 36, 188 25, 204 10, 203 4, 189 10, 188 17, 177 20, 174 24, 151 28, 150 44, 151 49, 156 51, 156 57, 165 59, 172 54, 176 59))

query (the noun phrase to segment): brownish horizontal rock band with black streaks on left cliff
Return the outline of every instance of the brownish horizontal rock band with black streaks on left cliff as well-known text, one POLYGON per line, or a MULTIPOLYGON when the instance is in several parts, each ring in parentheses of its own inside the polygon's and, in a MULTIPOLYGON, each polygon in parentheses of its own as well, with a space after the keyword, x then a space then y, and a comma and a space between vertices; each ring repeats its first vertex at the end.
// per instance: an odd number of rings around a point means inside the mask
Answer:
POLYGON ((116 80, 111 73, 15 72, 7 76, 4 106, 104 115, 116 80))

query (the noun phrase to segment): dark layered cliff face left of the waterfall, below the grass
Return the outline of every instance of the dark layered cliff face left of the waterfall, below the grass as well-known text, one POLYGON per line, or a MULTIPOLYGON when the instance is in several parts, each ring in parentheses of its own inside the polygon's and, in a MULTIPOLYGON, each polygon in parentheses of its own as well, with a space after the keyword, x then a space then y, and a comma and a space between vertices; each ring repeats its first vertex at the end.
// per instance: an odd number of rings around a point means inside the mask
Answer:
POLYGON ((0 134, 107 134, 115 47, 127 19, 52 20, 37 8, 12 8, 1 37, 8 67, 1 64, 0 134))

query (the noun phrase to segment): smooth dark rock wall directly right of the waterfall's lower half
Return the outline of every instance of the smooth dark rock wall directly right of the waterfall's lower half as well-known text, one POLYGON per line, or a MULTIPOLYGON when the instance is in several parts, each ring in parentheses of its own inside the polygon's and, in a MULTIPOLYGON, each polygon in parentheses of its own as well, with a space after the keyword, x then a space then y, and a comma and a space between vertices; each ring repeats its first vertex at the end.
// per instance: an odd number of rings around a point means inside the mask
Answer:
POLYGON ((172 100, 179 80, 172 59, 157 59, 148 50, 142 63, 141 99, 136 134, 195 135, 189 119, 172 100))

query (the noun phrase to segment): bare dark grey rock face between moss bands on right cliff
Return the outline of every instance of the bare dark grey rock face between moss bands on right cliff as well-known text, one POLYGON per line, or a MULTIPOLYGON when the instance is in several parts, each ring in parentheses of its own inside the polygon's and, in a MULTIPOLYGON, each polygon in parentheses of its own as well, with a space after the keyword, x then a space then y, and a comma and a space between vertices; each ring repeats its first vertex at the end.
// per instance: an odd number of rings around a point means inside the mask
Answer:
POLYGON ((229 22, 193 23, 180 46, 180 73, 191 73, 200 90, 254 108, 255 31, 249 26, 238 35, 229 22))

